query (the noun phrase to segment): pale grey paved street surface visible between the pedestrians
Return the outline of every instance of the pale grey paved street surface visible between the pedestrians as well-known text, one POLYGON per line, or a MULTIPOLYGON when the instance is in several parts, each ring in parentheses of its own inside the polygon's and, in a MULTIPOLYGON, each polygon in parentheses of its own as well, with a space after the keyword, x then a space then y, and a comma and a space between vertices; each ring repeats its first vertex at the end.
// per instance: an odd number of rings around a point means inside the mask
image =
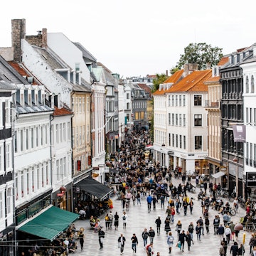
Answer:
MULTIPOLYGON (((181 179, 175 179, 172 178, 172 182, 174 183, 174 186, 177 186, 178 183, 181 183, 181 179)), ((192 180, 192 183, 195 183, 195 180, 192 180)), ((198 191, 200 189, 196 188, 196 193, 188 193, 188 196, 191 198, 194 198, 194 207, 193 207, 193 214, 191 215, 188 210, 188 214, 184 216, 183 210, 181 209, 181 213, 179 215, 175 215, 174 217, 174 224, 171 224, 171 231, 174 235, 175 241, 174 245, 176 245, 176 242, 178 241, 177 234, 175 231, 175 225, 177 220, 181 220, 182 223, 182 229, 185 231, 188 230, 188 225, 193 221, 194 226, 196 226, 196 221, 200 216, 203 217, 201 213, 201 201, 198 201, 197 195, 198 191)), ((143 240, 142 240, 142 231, 144 228, 149 230, 149 227, 153 227, 156 232, 156 224, 155 220, 158 217, 158 215, 161 216, 161 233, 159 236, 156 236, 154 238, 154 255, 156 255, 156 252, 160 252, 160 255, 169 255, 169 249, 168 245, 166 243, 166 233, 164 232, 164 220, 166 218, 166 208, 163 210, 161 209, 160 202, 156 203, 156 210, 151 210, 150 213, 147 211, 147 205, 146 205, 146 198, 142 198, 142 205, 137 206, 137 203, 135 205, 132 205, 129 207, 129 210, 127 211, 127 228, 124 229, 122 227, 122 218, 120 217, 122 215, 122 202, 117 199, 117 197, 113 196, 113 206, 112 213, 119 214, 119 228, 118 230, 114 230, 114 227, 110 230, 106 230, 105 228, 105 220, 104 216, 101 216, 102 226, 104 226, 103 230, 105 231, 105 239, 104 239, 104 248, 100 250, 100 245, 98 242, 98 234, 94 233, 93 230, 90 230, 90 223, 88 220, 77 220, 75 222, 75 226, 77 229, 85 228, 85 245, 84 250, 80 250, 80 245, 78 242, 78 250, 75 252, 75 254, 79 255, 120 255, 119 248, 117 247, 117 239, 119 238, 119 235, 122 233, 124 237, 126 238, 126 243, 124 245, 124 253, 123 255, 135 255, 132 252, 132 234, 135 233, 137 235, 137 238, 139 240, 139 245, 137 246, 137 253, 136 255, 146 255, 146 251, 144 250, 143 246, 143 240)), ((224 200, 225 203, 225 200, 224 200)), ((165 203, 165 207, 167 205, 167 201, 165 203)), ((109 212, 110 210, 108 210, 109 212)), ((178 247, 173 248, 171 255, 219 255, 219 247, 220 247, 220 238, 218 235, 214 235, 213 232, 213 218, 215 217, 215 214, 217 211, 210 208, 209 210, 209 220, 210 220, 210 233, 205 235, 202 235, 201 241, 196 240, 196 234, 194 233, 194 245, 191 245, 191 250, 188 251, 187 244, 185 242, 184 252, 181 252, 181 250, 178 249, 178 247)), ((241 216, 245 215, 245 210, 240 208, 238 210, 238 213, 232 217, 233 223, 236 223, 240 220, 241 216)), ((223 223, 222 215, 220 215, 220 223, 223 223)), ((242 234, 244 231, 240 231, 238 235, 238 244, 242 242, 242 234)), ((250 247, 248 245, 248 242, 250 240, 250 233, 246 232, 246 239, 245 239, 245 255, 249 255, 250 247)), ((148 241, 149 242, 149 241, 148 241)), ((230 245, 233 245, 233 242, 230 242, 230 245)), ((227 255, 230 255, 230 245, 228 245, 228 253, 227 255)))

